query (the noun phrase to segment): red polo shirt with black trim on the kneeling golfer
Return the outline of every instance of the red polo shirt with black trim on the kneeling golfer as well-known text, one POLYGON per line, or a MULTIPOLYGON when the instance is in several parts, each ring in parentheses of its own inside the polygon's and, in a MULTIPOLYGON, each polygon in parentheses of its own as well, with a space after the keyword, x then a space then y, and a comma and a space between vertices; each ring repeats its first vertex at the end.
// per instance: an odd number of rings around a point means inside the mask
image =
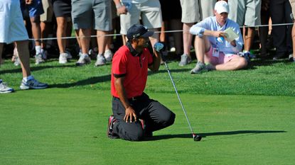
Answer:
POLYGON ((130 51, 129 47, 124 45, 114 54, 111 76, 112 96, 119 98, 114 86, 114 77, 125 77, 123 85, 127 98, 141 96, 144 92, 148 75, 148 66, 153 63, 153 57, 146 48, 144 48, 141 55, 135 55, 136 52, 134 51, 133 48, 130 51))

